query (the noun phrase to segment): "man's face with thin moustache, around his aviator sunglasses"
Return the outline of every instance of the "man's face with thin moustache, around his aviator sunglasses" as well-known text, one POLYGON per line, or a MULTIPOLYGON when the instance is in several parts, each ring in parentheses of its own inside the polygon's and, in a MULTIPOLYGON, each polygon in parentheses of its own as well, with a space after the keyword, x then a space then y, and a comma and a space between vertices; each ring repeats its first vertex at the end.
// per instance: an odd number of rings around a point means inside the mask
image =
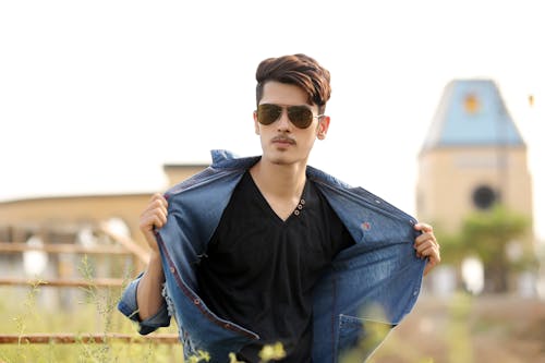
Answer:
POLYGON ((282 112, 268 125, 259 123, 254 112, 255 133, 261 137, 264 160, 280 165, 306 164, 314 141, 316 137, 324 138, 329 126, 328 117, 314 118, 306 129, 300 129, 290 121, 289 106, 307 106, 314 116, 318 116, 318 107, 306 101, 305 92, 295 85, 272 81, 265 84, 259 105, 280 105, 282 112))

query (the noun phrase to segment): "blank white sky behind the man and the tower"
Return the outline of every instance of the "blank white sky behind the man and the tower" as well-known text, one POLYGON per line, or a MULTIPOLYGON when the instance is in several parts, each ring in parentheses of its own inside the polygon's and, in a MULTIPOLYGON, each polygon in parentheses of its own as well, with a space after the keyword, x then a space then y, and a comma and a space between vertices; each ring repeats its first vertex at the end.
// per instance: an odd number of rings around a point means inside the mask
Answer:
MULTIPOLYGON (((304 52, 332 76, 313 166, 414 214, 443 87, 491 77, 529 145, 545 237, 545 22, 517 1, 2 1, 0 199, 155 192, 162 164, 259 154, 255 69, 304 52), (533 108, 528 96, 535 97, 533 108)), ((541 229, 540 229, 541 228, 541 229)))

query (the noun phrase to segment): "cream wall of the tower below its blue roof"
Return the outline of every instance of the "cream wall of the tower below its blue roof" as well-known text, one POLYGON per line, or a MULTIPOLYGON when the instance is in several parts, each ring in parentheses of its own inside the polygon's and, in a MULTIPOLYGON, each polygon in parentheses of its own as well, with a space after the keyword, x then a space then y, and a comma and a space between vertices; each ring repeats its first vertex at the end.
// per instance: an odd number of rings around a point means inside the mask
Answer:
POLYGON ((447 231, 477 210, 473 193, 480 185, 499 192, 502 203, 532 217, 532 182, 524 147, 441 147, 422 154, 417 181, 417 215, 447 231), (504 167, 505 166, 505 167, 504 167))

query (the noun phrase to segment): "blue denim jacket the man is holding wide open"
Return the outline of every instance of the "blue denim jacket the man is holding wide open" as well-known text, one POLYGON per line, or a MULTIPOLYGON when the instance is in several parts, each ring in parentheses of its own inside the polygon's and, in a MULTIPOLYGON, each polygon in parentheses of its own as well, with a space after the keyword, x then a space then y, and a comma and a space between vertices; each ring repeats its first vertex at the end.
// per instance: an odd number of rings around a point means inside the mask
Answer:
MULTIPOLYGON (((195 266, 232 191, 259 157, 237 158, 225 150, 211 155, 210 167, 166 193, 168 220, 156 232, 166 276, 162 308, 138 320, 140 276, 128 286, 118 307, 138 322, 143 335, 168 326, 174 316, 186 358, 203 350, 210 362, 225 363, 230 352, 258 336, 208 310, 198 297, 195 266)), ((413 249, 420 232, 413 228, 413 217, 364 189, 350 187, 312 167, 306 176, 355 241, 337 255, 316 287, 313 362, 337 362, 349 350, 364 361, 416 302, 425 265, 413 249)))

